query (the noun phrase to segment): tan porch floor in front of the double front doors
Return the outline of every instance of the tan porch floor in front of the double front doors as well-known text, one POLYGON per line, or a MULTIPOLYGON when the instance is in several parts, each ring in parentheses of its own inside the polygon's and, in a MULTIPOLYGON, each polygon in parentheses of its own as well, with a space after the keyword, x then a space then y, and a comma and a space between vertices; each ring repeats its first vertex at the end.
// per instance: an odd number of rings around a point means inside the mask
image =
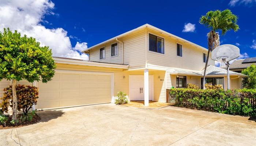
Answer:
POLYGON ((163 103, 158 101, 149 101, 148 106, 144 106, 144 101, 129 101, 127 104, 123 104, 126 107, 135 107, 135 108, 163 108, 172 106, 171 103, 163 103))

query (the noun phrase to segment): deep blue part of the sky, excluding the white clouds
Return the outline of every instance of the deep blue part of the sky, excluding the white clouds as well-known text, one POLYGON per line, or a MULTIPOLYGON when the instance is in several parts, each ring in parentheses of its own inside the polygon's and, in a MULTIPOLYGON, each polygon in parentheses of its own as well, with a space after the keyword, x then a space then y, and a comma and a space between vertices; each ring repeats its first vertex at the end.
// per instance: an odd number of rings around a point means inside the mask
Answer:
POLYGON ((256 56, 256 48, 251 48, 256 40, 256 2, 230 0, 194 1, 76 1, 63 3, 55 1, 54 12, 58 15, 47 15, 45 19, 52 25, 68 31, 72 45, 77 41, 87 42, 88 47, 122 34, 145 23, 151 24, 178 37, 187 39, 200 46, 207 47, 208 29, 199 24, 199 18, 210 10, 230 9, 238 16, 240 30, 229 31, 221 36, 221 44, 233 44, 240 48, 241 54, 256 56), (185 23, 195 24, 194 32, 182 32, 185 23), (240 44, 240 45, 238 45, 240 44))

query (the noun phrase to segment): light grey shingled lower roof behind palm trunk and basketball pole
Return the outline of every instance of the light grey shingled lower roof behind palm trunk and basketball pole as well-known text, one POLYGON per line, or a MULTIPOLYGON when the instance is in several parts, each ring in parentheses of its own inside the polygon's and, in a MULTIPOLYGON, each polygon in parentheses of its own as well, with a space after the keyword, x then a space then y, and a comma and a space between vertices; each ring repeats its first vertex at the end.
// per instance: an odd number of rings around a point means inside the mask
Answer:
MULTIPOLYGON (((201 71, 201 74, 204 74, 204 69, 201 71)), ((209 65, 206 69, 206 75, 226 75, 227 74, 227 70, 223 69, 223 68, 219 68, 217 66, 212 66, 209 65)), ((238 76, 246 76, 245 74, 241 74, 241 73, 237 73, 237 72, 233 72, 233 71, 229 71, 230 75, 238 75, 238 76)))

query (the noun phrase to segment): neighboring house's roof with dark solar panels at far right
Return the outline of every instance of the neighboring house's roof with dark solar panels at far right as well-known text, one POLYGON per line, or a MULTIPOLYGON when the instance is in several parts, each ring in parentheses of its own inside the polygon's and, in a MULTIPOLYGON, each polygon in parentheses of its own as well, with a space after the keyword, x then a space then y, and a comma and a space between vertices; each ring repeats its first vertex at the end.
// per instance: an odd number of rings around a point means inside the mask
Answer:
MULTIPOLYGON (((256 59, 256 57, 253 57, 256 59)), ((253 58, 248 58, 248 59, 253 59, 253 58)), ((246 58, 247 59, 247 58, 246 58)), ((256 65, 255 62, 244 62, 245 59, 237 59, 235 60, 231 65, 229 65, 229 69, 245 69, 248 68, 251 65, 256 65)), ((223 69, 226 69, 227 67, 221 67, 223 69)))

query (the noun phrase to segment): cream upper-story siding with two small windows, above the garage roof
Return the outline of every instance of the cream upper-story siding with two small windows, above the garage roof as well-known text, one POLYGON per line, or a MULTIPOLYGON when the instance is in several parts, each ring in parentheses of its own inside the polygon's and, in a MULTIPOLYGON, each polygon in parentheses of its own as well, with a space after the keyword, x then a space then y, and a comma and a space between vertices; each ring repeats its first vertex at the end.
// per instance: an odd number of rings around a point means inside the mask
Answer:
MULTIPOLYGON (((145 66, 145 30, 133 32, 119 41, 124 43, 124 64, 129 67, 145 66)), ((108 42, 90 50, 90 61, 122 63, 122 43, 118 42, 118 56, 111 57, 111 44, 117 41, 108 42), (105 46, 105 59, 99 59, 99 49, 105 46)))

